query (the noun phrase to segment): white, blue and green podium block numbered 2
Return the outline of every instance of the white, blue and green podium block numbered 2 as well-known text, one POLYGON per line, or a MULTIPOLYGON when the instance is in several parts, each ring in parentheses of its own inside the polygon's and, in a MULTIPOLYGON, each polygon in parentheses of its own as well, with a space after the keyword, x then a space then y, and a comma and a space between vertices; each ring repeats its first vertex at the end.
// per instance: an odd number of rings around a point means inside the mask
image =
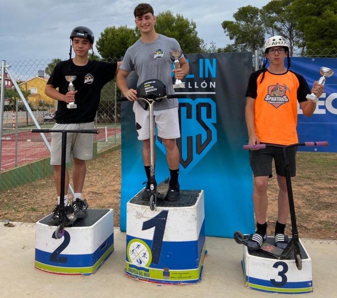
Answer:
POLYGON ((87 215, 66 227, 56 239, 52 214, 36 222, 35 268, 59 275, 90 275, 114 250, 113 209, 87 209, 87 215))

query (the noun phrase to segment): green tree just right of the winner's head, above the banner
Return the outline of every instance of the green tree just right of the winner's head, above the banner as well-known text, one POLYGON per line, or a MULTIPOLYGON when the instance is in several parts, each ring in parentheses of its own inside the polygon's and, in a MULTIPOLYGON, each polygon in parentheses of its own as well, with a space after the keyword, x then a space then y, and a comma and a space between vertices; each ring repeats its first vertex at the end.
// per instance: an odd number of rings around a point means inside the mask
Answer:
POLYGON ((184 18, 182 14, 174 16, 170 10, 158 13, 155 29, 157 33, 177 39, 185 54, 202 52, 204 40, 198 37, 195 22, 184 18))

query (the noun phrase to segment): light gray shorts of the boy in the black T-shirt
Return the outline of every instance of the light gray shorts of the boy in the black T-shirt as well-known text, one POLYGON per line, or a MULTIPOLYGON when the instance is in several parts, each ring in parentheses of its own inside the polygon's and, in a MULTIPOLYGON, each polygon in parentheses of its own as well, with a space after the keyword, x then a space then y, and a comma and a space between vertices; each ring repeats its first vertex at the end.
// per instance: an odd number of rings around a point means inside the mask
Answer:
MULTIPOLYGON (((73 124, 55 123, 53 129, 94 129, 94 122, 73 124)), ((50 164, 61 165, 62 133, 52 132, 51 136, 50 164)), ((92 133, 67 132, 66 162, 70 161, 71 154, 74 158, 82 160, 92 159, 93 143, 94 136, 92 133)))

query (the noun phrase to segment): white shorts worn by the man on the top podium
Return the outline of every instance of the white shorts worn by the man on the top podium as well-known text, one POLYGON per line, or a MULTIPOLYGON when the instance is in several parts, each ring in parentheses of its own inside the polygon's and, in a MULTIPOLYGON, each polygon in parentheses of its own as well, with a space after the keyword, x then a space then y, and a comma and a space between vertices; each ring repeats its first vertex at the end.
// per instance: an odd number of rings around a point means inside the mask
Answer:
MULTIPOLYGON (((133 104, 138 140, 150 139, 150 115, 137 102, 133 104)), ((180 138, 178 108, 153 111, 154 135, 157 127, 158 137, 162 139, 180 138)))

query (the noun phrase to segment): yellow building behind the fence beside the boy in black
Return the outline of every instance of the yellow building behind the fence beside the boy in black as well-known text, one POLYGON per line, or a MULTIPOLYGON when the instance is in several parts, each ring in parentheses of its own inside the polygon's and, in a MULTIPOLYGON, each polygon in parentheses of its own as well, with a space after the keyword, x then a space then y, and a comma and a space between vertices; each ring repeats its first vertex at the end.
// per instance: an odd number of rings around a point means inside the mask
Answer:
POLYGON ((55 112, 56 100, 44 94, 44 88, 47 81, 48 78, 44 76, 36 76, 35 78, 20 83, 19 86, 22 90, 30 92, 27 96, 27 100, 30 102, 32 107, 37 108, 41 105, 51 106, 48 110, 50 110, 50 112, 55 112))

